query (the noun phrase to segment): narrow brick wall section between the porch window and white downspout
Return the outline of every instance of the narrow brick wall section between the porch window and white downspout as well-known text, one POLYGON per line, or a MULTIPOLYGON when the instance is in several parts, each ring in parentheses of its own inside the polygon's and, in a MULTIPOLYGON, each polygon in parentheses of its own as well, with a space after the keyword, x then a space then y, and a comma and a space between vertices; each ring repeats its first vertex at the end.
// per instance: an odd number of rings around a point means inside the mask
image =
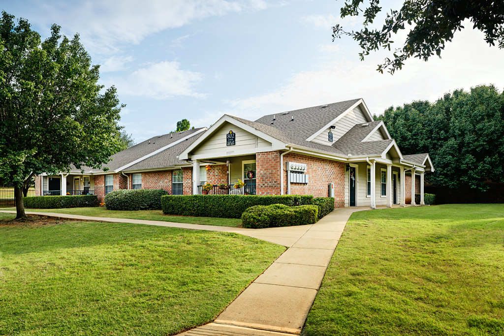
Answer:
POLYGON ((256 192, 258 195, 280 194, 280 151, 256 154, 256 192))

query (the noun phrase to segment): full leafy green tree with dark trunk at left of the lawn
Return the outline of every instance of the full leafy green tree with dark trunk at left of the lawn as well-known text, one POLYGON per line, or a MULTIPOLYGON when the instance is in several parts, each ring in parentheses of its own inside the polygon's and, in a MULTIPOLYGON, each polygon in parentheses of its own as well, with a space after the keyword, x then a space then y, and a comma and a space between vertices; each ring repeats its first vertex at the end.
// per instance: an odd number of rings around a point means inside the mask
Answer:
POLYGON ((120 146, 115 88, 100 93, 99 65, 59 29, 41 42, 27 20, 0 19, 0 183, 14 185, 17 219, 33 176, 100 167, 120 146))

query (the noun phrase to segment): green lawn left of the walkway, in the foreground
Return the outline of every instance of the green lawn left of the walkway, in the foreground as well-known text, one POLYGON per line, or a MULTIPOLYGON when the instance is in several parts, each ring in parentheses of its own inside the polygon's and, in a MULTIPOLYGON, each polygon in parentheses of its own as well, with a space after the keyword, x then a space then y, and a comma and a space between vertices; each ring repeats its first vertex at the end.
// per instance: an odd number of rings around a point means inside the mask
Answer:
POLYGON ((0 334, 174 334, 215 318, 283 250, 232 233, 0 221, 0 334))

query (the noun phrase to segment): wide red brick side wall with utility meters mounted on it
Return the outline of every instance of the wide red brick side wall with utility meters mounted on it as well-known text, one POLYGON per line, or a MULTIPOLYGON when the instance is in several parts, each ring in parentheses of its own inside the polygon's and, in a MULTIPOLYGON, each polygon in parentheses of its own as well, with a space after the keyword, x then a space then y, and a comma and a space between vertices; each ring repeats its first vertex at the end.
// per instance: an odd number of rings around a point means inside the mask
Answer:
POLYGON ((334 206, 345 206, 345 164, 326 159, 313 158, 300 154, 284 155, 284 193, 287 194, 286 162, 306 164, 308 183, 291 183, 291 194, 312 194, 315 197, 329 196, 329 183, 334 183, 334 206))

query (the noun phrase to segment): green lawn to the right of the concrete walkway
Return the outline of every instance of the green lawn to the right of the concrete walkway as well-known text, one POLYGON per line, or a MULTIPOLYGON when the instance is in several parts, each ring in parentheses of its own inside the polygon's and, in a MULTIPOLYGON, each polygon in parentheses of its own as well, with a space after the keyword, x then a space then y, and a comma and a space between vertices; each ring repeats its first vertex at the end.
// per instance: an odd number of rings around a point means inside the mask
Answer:
POLYGON ((504 205, 353 214, 303 334, 504 335, 504 205))

